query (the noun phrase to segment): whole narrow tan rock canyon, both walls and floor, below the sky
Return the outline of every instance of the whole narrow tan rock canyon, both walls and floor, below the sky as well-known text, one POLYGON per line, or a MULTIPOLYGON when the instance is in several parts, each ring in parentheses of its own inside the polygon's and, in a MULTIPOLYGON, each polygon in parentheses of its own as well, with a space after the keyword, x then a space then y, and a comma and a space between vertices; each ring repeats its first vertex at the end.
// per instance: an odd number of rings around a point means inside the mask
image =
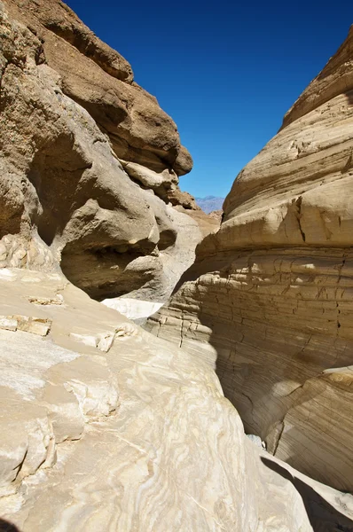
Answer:
POLYGON ((118 51, 0 0, 0 530, 353 532, 352 39, 221 209, 118 51))

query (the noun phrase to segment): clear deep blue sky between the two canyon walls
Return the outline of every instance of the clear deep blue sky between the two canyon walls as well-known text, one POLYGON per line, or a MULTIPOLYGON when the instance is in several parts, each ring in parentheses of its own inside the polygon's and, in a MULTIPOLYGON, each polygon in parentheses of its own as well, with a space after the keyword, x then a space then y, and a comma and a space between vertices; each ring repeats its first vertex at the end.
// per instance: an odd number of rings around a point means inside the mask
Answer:
POLYGON ((240 169, 346 38, 349 0, 67 0, 129 60, 176 121, 195 196, 225 196, 240 169))

